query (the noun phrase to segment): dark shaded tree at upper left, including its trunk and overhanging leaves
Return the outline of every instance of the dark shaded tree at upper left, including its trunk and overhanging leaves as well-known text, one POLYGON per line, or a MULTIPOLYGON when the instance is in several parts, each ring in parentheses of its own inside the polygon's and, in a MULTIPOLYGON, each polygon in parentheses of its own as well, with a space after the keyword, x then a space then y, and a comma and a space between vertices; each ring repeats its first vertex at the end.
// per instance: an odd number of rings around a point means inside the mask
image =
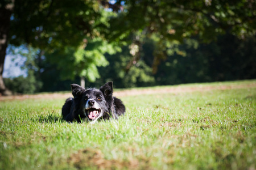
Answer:
POLYGON ((65 50, 67 46, 72 50, 78 49, 79 51, 85 38, 102 37, 99 32, 100 28, 105 27, 102 12, 104 9, 96 0, 76 2, 71 0, 1 1, 1 94, 5 95, 6 91, 2 81, 2 71, 7 42, 13 45, 31 45, 43 50, 44 53, 51 53, 54 49, 65 50))

